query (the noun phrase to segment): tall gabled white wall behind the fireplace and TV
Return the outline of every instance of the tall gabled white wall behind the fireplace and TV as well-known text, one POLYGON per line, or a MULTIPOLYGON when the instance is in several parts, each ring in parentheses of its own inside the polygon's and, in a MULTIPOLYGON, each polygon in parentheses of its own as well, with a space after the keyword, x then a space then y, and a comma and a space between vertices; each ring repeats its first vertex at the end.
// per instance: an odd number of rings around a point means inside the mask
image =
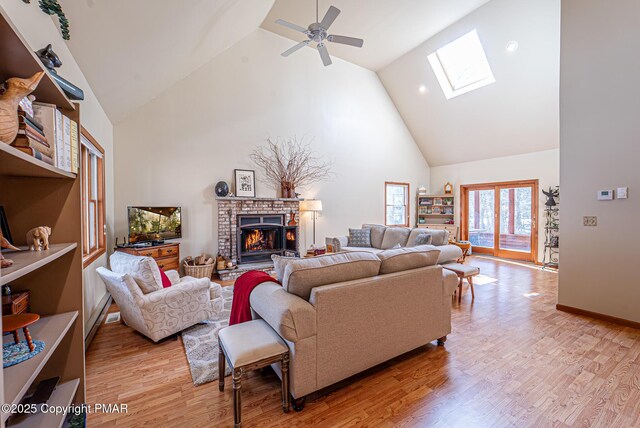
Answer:
MULTIPOLYGON (((337 58, 323 67, 311 48, 281 57, 291 44, 257 29, 116 125, 117 236, 127 231, 127 205, 181 205, 181 255, 215 253, 213 186, 232 181, 234 168, 255 169, 248 155, 267 137, 304 136, 335 161, 333 179, 298 189, 323 201, 318 242, 384 222, 385 180, 410 182, 412 194, 429 184, 429 167, 377 75, 337 58)), ((258 182, 257 194, 276 191, 258 182)))

